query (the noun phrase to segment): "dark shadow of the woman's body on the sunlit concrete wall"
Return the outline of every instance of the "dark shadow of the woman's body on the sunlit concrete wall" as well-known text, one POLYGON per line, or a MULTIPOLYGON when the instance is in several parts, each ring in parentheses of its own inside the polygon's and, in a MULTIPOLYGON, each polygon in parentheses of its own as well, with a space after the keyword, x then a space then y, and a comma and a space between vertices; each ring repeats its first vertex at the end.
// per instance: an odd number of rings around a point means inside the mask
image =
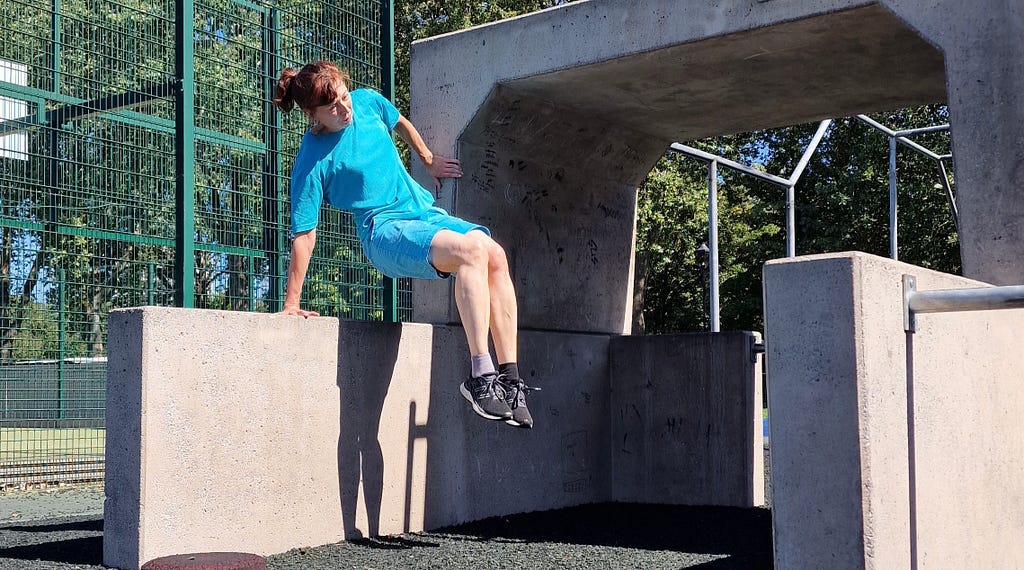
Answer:
POLYGON ((378 440, 384 398, 401 341, 398 323, 341 321, 338 334, 338 488, 346 539, 358 539, 359 483, 367 507, 367 535, 380 528, 384 454, 378 440))

